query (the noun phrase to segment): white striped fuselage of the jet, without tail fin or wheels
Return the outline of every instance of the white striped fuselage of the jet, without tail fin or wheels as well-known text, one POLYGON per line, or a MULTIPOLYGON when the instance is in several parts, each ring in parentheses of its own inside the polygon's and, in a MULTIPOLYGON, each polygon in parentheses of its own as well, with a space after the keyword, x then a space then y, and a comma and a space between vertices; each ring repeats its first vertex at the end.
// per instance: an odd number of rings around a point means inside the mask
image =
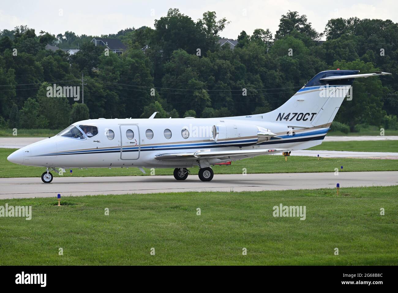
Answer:
MULTIPOLYGON (((197 159, 162 161, 154 157, 160 153, 194 152, 204 149, 217 151, 269 148, 306 149, 321 144, 329 130, 328 126, 305 128, 293 126, 292 130, 292 128, 289 128, 291 126, 287 124, 266 122, 262 117, 254 115, 253 117, 231 118, 101 118, 84 120, 73 125, 76 127, 79 125, 95 126, 98 128, 98 133, 93 137, 88 137, 85 134, 83 139, 60 135, 53 136, 19 149, 12 153, 8 160, 22 165, 49 168, 192 167, 198 165, 197 159), (215 142, 212 133, 215 125, 226 129, 226 134, 224 134, 226 137, 217 142, 215 142), (277 137, 256 143, 257 137, 254 133, 256 127, 269 129, 277 134, 277 137), (183 138, 181 133, 183 129, 188 130, 189 137, 183 138), (113 139, 107 137, 108 130, 113 131, 113 139), (131 135, 127 136, 128 130, 129 134, 134 133, 133 138, 131 138, 131 135), (146 135, 147 130, 152 130, 152 138, 150 138, 150 135, 146 135)), ((184 134, 187 136, 186 132, 184 134)), ((213 158, 207 160, 206 164, 212 165, 253 156, 255 155, 245 155, 233 159, 213 158)))

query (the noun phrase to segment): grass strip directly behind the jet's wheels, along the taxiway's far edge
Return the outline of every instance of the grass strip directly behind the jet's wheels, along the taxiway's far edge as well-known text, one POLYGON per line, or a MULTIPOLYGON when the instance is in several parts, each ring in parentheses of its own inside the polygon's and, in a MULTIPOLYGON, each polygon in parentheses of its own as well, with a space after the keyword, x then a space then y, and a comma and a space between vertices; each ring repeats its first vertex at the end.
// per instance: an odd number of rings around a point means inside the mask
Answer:
MULTIPOLYGON (((0 177, 40 177, 44 167, 29 167, 11 163, 7 157, 15 149, 0 149, 0 177)), ((251 159, 232 162, 230 166, 214 166, 215 174, 240 174, 242 169, 251 173, 302 173, 302 172, 333 172, 335 168, 343 166, 344 172, 349 171, 398 171, 396 160, 387 159, 349 159, 349 158, 320 158, 316 157, 288 157, 287 162, 282 155, 263 155, 251 159)), ((173 175, 174 169, 155 169, 155 175, 173 175)), ((199 168, 190 168, 192 174, 197 174, 199 168)), ((137 176, 144 175, 137 168, 90 168, 73 169, 73 175, 65 170, 63 176, 137 176)), ((150 169, 146 169, 150 175, 150 169)), ((58 173, 52 171, 57 177, 58 173)))

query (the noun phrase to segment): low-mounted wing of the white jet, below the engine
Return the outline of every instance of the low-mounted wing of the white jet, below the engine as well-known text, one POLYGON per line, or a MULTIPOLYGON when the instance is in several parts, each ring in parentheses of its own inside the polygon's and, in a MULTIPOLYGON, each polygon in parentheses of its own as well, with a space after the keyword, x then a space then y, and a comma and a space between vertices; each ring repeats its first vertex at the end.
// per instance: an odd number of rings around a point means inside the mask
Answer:
POLYGON ((180 161, 183 159, 234 159, 234 157, 251 155, 269 155, 271 153, 281 153, 284 151, 291 151, 291 149, 250 149, 250 150, 225 150, 225 151, 211 151, 210 149, 202 149, 193 153, 160 153, 155 155, 155 159, 159 161, 180 161))

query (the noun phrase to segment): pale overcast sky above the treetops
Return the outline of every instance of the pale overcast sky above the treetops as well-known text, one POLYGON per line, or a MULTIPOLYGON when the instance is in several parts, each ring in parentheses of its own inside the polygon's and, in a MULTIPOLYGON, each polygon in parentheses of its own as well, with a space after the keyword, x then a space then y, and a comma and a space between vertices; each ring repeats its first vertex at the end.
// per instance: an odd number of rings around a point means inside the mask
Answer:
POLYGON ((154 20, 166 16, 169 8, 178 8, 195 21, 203 12, 215 11, 218 18, 225 17, 231 21, 220 35, 232 39, 236 39, 242 30, 252 34, 256 28, 269 28, 275 33, 279 18, 288 10, 306 14, 319 32, 331 18, 357 16, 398 22, 398 1, 393 0, 29 0, 2 1, 0 29, 27 25, 37 34, 43 30, 55 35, 65 31, 74 31, 78 35, 101 35, 130 27, 153 28, 154 20))

